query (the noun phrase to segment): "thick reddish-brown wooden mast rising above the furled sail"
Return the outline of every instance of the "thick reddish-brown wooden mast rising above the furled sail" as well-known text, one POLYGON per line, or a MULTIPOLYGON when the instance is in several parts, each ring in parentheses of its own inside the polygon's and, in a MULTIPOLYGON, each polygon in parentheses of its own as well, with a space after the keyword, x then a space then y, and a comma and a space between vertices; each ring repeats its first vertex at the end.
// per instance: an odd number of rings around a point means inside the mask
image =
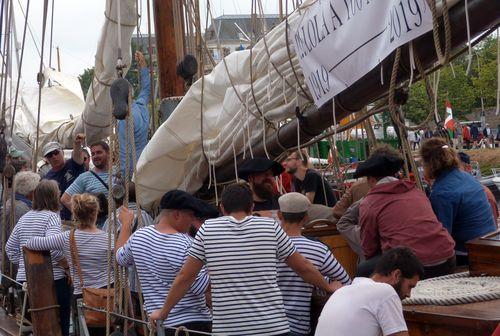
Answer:
POLYGON ((176 74, 177 50, 184 50, 184 39, 175 38, 175 1, 153 0, 160 99, 184 94, 184 81, 176 74))

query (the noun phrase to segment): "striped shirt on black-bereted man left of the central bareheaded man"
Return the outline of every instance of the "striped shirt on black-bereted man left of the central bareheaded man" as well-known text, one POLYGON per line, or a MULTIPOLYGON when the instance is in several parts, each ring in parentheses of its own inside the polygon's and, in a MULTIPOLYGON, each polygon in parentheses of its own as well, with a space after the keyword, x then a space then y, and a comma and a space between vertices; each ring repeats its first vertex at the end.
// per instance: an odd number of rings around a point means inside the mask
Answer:
MULTIPOLYGON (((186 234, 164 234, 152 225, 137 230, 116 251, 118 264, 135 264, 148 314, 163 307, 168 291, 186 261, 192 241, 193 238, 186 234)), ((172 309, 164 325, 211 321, 212 316, 205 301, 208 283, 208 274, 203 268, 187 294, 172 309)))

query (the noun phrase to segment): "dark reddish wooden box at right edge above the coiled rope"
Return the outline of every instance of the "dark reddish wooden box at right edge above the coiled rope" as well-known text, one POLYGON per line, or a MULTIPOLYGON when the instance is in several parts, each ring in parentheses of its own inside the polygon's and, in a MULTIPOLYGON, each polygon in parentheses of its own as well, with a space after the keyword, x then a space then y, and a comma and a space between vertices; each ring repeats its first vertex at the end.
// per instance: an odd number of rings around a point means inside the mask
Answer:
POLYGON ((500 276, 500 230, 468 241, 471 276, 500 276))

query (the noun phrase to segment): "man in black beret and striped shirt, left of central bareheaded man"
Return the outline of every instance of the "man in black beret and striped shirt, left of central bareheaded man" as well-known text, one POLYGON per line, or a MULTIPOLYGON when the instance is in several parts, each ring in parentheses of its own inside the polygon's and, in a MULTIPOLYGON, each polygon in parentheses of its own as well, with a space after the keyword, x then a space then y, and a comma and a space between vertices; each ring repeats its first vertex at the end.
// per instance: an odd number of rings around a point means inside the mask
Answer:
MULTIPOLYGON (((124 207, 120 210, 122 225, 116 243, 116 261, 122 266, 135 264, 148 314, 162 307, 188 256, 193 238, 187 232, 199 211, 199 202, 184 191, 171 190, 161 199, 158 224, 143 227, 132 235, 134 213, 124 207)), ((193 280, 187 294, 165 319, 165 325, 210 332, 212 316, 205 302, 209 283, 206 269, 193 280)), ((172 330, 167 331, 168 335, 169 331, 172 330)))

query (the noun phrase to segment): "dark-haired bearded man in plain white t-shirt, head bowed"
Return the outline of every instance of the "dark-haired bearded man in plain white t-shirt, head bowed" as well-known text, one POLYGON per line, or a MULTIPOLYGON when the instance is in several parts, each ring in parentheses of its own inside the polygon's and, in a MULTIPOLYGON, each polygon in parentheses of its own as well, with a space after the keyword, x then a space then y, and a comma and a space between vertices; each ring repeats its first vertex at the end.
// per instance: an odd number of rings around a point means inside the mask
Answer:
POLYGON ((371 278, 355 278, 328 299, 315 336, 408 335, 401 300, 423 276, 423 266, 410 249, 388 250, 371 278))

